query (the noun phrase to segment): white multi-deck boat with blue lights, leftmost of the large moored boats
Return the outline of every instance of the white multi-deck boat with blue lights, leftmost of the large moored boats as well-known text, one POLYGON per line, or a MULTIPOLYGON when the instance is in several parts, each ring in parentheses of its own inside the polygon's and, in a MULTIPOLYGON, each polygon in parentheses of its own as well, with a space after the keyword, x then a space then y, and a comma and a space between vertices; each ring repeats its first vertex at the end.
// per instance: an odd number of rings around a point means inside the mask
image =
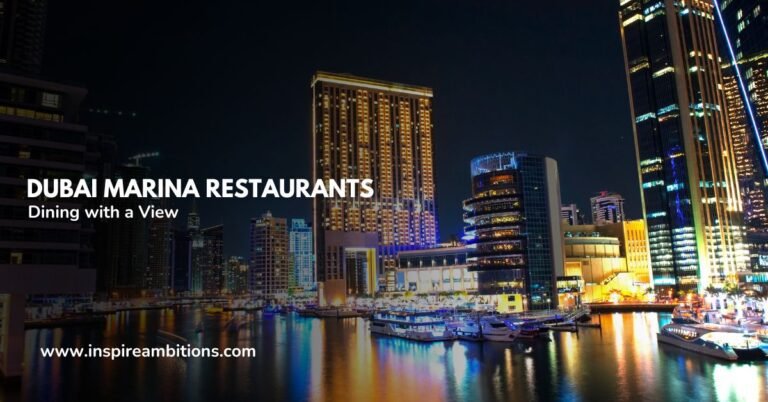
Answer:
POLYGON ((385 312, 374 314, 369 329, 373 334, 414 341, 450 341, 456 334, 433 312, 385 312))

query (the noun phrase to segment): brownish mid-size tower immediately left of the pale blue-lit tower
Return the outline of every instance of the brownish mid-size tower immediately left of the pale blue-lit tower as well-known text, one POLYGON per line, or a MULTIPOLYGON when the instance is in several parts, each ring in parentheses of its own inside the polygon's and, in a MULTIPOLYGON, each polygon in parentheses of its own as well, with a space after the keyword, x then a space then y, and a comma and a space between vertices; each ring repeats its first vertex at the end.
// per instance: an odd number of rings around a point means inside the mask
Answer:
POLYGON ((288 226, 285 218, 269 211, 251 219, 251 257, 248 289, 264 300, 288 296, 293 264, 288 251, 288 226))

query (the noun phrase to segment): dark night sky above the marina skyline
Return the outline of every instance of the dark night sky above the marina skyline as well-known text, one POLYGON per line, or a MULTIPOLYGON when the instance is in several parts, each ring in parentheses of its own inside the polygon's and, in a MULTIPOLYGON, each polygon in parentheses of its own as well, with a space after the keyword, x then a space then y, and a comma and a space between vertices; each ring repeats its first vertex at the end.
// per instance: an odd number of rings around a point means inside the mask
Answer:
MULTIPOLYGON (((159 151, 154 176, 199 179, 311 178, 316 70, 429 86, 443 239, 470 159, 505 150, 555 158, 564 203, 588 214, 608 189, 640 217, 617 0, 270 3, 51 1, 43 73, 87 87, 85 109, 137 113, 99 127, 123 157, 159 151)), ((309 218, 311 201, 199 209, 247 256, 251 217, 309 218)))

